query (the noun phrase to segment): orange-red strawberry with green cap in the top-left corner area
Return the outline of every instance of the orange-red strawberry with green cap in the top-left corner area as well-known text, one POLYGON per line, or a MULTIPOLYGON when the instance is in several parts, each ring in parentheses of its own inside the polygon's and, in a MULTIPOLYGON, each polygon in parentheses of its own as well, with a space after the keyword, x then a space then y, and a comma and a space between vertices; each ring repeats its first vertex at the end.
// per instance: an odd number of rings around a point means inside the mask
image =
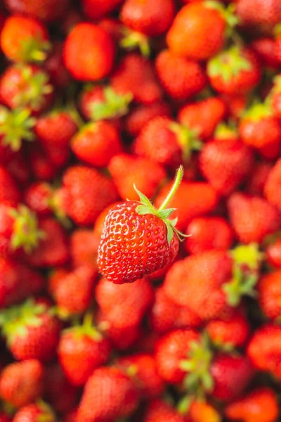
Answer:
POLYGON ((20 15, 11 15, 5 20, 0 45, 6 58, 15 62, 45 60, 51 46, 45 25, 20 15))

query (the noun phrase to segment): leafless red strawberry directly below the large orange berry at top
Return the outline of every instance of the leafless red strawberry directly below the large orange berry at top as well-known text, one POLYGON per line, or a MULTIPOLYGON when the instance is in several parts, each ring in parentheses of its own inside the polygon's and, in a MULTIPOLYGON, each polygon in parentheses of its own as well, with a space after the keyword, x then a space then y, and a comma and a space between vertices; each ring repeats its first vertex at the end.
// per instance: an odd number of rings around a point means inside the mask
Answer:
POLYGON ((167 94, 176 100, 185 101, 198 94, 207 83, 199 63, 178 57, 169 50, 159 53, 155 69, 167 94))

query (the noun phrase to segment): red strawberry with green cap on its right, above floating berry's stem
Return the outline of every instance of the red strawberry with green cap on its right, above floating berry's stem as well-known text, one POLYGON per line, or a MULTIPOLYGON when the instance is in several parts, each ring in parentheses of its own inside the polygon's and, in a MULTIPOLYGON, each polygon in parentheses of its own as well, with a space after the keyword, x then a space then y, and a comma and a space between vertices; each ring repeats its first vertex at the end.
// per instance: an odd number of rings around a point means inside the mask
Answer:
POLYGON ((168 117, 150 120, 133 146, 136 154, 172 168, 188 160, 190 151, 197 148, 200 142, 195 132, 168 117))

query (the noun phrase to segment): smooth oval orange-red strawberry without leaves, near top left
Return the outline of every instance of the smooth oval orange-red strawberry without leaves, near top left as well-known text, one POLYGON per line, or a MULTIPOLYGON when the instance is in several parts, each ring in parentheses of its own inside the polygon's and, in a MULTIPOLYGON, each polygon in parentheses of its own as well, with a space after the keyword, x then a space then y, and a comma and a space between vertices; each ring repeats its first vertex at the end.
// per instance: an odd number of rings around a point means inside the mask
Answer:
POLYGON ((109 75, 115 60, 110 35, 93 23, 79 23, 65 39, 65 67, 74 79, 96 81, 109 75))

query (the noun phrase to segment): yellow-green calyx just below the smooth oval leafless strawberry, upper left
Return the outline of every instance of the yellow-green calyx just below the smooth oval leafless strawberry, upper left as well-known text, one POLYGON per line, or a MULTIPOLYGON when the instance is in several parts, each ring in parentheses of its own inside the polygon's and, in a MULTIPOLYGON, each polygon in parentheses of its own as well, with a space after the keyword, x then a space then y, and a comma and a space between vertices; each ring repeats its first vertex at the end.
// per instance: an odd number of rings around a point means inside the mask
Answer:
POLYGON ((103 95, 105 101, 94 102, 91 105, 92 120, 107 120, 129 113, 129 104, 133 100, 133 94, 119 95, 113 88, 105 87, 103 95))

